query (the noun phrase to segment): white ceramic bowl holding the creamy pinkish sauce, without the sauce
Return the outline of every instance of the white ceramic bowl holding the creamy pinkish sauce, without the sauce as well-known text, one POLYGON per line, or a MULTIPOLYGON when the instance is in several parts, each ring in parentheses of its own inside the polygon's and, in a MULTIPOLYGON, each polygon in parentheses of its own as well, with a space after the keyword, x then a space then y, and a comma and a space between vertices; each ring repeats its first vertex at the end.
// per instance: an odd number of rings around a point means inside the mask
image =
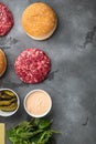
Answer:
MULTIPOLYGON (((36 101, 35 101, 36 102, 36 101)), ((32 116, 32 117, 43 117, 43 116, 45 116, 46 114, 49 114, 50 113, 50 111, 51 111, 51 109, 52 109, 52 99, 51 99, 51 96, 50 96, 50 94, 47 93, 47 92, 45 92, 45 91, 43 91, 43 90, 40 90, 40 89, 36 89, 36 90, 33 90, 33 91, 31 91, 31 92, 29 92, 28 94, 26 94, 26 96, 24 97, 24 110, 25 110, 25 112, 30 115, 30 116, 32 116), (28 111, 28 107, 26 107, 26 101, 28 101, 28 99, 29 99, 29 96, 32 94, 32 93, 34 93, 34 92, 42 92, 43 94, 45 94, 46 96, 47 96, 47 100, 49 100, 49 109, 47 109, 47 111, 45 111, 44 113, 42 113, 42 114, 33 114, 32 112, 30 112, 30 111, 28 111)), ((30 104, 31 104, 31 101, 30 101, 30 104)))

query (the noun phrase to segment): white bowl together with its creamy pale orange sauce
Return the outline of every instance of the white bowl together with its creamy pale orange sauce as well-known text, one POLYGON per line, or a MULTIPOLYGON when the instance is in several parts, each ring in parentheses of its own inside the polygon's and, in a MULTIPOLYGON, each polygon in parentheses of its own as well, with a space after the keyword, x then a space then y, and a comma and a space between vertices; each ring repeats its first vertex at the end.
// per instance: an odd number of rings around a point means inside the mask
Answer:
POLYGON ((32 117, 45 116, 51 111, 51 96, 43 90, 33 90, 24 99, 24 109, 32 117))

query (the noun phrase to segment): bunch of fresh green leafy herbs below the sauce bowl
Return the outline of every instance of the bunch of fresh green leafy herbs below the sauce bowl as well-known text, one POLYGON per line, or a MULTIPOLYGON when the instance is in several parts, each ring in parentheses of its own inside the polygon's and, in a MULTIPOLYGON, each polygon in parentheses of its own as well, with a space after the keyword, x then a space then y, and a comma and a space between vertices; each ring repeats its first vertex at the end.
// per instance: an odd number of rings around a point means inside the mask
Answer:
POLYGON ((57 131, 51 130, 52 121, 34 119, 31 122, 22 122, 7 131, 12 144, 47 144, 57 131))

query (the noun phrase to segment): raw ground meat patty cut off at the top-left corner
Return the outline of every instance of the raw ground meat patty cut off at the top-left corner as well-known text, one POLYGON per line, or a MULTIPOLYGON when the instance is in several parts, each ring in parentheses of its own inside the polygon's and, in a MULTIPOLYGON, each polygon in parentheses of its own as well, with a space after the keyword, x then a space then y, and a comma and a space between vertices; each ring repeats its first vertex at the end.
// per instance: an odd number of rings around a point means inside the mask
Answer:
POLYGON ((13 17, 7 6, 0 2, 0 37, 6 35, 13 25, 13 17))

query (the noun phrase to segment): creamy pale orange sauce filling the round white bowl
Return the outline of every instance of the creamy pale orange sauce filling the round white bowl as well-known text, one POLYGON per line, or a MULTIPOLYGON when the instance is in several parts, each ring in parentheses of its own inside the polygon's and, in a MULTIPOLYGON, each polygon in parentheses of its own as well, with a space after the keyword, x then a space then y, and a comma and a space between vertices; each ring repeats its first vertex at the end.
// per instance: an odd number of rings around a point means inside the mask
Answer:
POLYGON ((42 115, 49 111, 51 99, 43 91, 35 91, 28 96, 25 106, 29 113, 33 115, 42 115))

